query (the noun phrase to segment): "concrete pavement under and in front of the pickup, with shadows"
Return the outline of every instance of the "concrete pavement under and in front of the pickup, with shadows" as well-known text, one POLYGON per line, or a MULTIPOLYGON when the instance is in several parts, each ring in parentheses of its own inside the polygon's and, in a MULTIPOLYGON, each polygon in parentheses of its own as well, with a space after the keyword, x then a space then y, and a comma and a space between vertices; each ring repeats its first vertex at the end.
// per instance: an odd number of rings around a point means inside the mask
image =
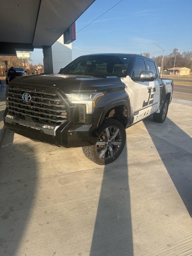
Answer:
POLYGON ((6 132, 0 148, 0 255, 192 255, 192 102, 164 124, 126 130, 108 166, 81 148, 6 132))

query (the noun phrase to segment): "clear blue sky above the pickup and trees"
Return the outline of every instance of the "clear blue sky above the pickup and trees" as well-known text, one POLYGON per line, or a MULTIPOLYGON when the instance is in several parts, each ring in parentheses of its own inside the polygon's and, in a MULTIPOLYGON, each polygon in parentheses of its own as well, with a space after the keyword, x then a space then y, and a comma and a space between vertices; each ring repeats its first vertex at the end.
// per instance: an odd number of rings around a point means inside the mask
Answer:
MULTIPOLYGON (((119 0, 96 0, 76 21, 76 31, 86 26, 119 0)), ((123 0, 90 26, 76 34, 72 58, 103 52, 161 54, 152 42, 166 49, 192 50, 192 0, 123 0)), ((183 50, 181 50, 182 52, 183 50)), ((42 51, 32 53, 42 62, 42 51)))

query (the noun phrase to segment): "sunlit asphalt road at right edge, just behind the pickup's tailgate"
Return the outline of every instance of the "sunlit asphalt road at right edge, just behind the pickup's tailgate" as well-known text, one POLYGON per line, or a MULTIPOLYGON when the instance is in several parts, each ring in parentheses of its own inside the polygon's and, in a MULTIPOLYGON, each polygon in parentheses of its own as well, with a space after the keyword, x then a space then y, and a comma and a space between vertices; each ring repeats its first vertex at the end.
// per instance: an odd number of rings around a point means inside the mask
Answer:
POLYGON ((192 86, 174 84, 173 98, 192 101, 192 86))

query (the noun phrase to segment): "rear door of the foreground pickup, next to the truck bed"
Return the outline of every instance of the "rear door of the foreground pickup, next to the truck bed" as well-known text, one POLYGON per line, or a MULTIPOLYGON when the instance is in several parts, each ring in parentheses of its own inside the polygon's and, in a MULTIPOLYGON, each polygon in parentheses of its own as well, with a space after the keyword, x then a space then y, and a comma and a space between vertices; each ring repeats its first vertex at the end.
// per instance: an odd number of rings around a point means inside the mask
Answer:
POLYGON ((150 101, 148 103, 148 112, 147 114, 152 114, 158 110, 159 104, 160 104, 160 82, 158 77, 158 72, 156 68, 155 62, 152 60, 145 59, 147 70, 153 71, 155 73, 155 80, 152 82, 149 82, 150 85, 150 101))

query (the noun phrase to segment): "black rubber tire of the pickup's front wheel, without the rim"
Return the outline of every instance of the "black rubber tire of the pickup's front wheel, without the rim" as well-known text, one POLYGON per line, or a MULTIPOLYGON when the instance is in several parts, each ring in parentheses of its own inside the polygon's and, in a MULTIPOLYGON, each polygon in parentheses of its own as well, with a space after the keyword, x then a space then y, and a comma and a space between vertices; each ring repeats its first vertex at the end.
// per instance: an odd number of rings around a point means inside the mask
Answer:
POLYGON ((116 154, 114 155, 113 158, 109 158, 109 159, 101 159, 98 154, 97 154, 97 145, 92 145, 92 146, 84 146, 82 147, 82 150, 85 154, 85 156, 90 159, 91 161, 95 162, 96 164, 99 165, 105 165, 105 164, 109 164, 111 162, 114 162, 121 154, 124 146, 125 146, 125 142, 126 142, 126 131, 124 126, 118 122, 117 120, 114 120, 113 118, 105 118, 102 126, 99 128, 98 130, 98 134, 101 134, 106 128, 110 127, 110 126, 115 126, 117 128, 120 129, 120 133, 121 133, 121 145, 120 148, 118 149, 118 151, 116 152, 116 154))

